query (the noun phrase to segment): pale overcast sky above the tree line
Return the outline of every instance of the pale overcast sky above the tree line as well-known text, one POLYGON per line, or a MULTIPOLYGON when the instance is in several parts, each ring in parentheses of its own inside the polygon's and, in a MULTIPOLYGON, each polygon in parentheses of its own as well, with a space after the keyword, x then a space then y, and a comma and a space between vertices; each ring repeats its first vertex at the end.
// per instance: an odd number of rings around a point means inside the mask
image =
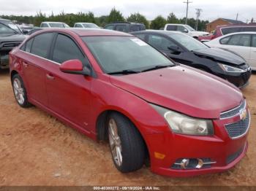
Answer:
MULTIPOLYGON (((108 15, 110 9, 116 7, 125 17, 132 12, 140 12, 148 20, 154 19, 157 15, 167 16, 174 12, 177 17, 184 17, 186 13, 185 0, 0 0, 1 15, 36 15, 39 10, 47 15, 53 11, 58 14, 64 12, 94 12, 94 15, 108 15)), ((251 20, 255 15, 256 1, 244 0, 192 0, 189 4, 189 17, 195 17, 195 9, 203 9, 201 19, 214 20, 217 17, 227 17, 236 19, 236 13, 239 12, 239 20, 251 20)))

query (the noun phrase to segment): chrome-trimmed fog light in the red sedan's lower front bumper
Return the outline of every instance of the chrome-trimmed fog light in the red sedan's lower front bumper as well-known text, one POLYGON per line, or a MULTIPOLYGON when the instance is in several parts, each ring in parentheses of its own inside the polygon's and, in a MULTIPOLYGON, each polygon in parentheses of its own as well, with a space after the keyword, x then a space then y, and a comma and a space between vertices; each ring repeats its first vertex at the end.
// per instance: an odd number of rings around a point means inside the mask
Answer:
POLYGON ((216 163, 211 161, 210 158, 180 158, 172 165, 173 169, 200 169, 200 168, 210 168, 211 164, 216 163))

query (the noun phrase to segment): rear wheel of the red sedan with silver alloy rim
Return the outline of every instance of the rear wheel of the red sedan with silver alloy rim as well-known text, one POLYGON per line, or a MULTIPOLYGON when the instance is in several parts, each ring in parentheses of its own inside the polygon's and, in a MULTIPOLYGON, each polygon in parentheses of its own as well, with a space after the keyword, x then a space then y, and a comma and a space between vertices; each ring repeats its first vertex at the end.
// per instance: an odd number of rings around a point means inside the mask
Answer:
POLYGON ((27 108, 31 106, 31 104, 28 101, 26 87, 19 74, 15 74, 12 77, 12 90, 19 106, 23 108, 27 108))

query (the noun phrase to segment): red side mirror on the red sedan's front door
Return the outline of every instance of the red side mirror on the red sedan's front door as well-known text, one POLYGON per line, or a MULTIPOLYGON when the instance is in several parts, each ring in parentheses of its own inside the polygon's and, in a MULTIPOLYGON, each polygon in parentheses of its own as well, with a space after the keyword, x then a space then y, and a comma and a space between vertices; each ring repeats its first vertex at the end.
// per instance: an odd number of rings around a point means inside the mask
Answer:
POLYGON ((83 63, 78 59, 65 61, 59 66, 59 69, 67 74, 91 75, 91 70, 86 66, 83 66, 83 63))

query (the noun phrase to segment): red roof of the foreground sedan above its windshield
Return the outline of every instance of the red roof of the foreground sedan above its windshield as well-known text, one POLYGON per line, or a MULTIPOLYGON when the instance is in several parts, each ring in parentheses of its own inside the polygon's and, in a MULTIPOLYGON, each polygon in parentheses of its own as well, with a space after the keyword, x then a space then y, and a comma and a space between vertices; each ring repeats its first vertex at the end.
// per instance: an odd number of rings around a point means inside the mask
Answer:
POLYGON ((38 31, 37 34, 44 31, 75 33, 78 36, 132 36, 131 34, 101 28, 45 28, 38 31))

